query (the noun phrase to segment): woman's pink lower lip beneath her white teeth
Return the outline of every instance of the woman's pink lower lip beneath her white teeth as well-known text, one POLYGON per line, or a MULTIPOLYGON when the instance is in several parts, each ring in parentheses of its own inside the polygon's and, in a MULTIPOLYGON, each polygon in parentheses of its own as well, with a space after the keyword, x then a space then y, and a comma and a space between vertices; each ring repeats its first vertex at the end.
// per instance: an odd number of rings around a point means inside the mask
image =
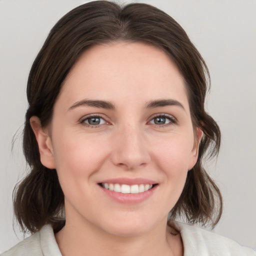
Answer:
POLYGON ((139 203, 144 200, 146 200, 148 197, 150 197, 153 192, 155 191, 157 185, 154 185, 152 188, 148 189, 147 191, 141 192, 141 193, 120 193, 120 192, 115 192, 106 188, 103 188, 102 186, 98 185, 102 191, 108 195, 110 198, 114 199, 117 202, 120 203, 139 203))

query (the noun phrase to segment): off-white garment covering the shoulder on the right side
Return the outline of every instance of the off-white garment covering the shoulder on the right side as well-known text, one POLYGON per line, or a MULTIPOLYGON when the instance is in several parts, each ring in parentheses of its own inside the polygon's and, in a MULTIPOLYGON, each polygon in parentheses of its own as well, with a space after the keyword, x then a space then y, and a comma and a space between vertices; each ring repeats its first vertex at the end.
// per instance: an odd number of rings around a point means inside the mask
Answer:
POLYGON ((195 225, 173 222, 179 230, 183 245, 184 256, 218 255, 218 256, 256 256, 256 251, 241 246, 236 241, 222 235, 207 231, 195 225))

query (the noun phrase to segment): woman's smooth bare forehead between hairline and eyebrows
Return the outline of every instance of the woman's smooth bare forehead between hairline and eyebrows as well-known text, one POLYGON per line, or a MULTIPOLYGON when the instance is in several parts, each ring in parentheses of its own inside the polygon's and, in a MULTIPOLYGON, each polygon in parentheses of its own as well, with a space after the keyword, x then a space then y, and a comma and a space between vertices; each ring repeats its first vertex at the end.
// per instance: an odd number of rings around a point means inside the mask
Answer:
POLYGON ((183 77, 165 52, 123 41, 85 50, 68 73, 61 94, 69 101, 84 97, 142 101, 166 96, 187 101, 183 77))

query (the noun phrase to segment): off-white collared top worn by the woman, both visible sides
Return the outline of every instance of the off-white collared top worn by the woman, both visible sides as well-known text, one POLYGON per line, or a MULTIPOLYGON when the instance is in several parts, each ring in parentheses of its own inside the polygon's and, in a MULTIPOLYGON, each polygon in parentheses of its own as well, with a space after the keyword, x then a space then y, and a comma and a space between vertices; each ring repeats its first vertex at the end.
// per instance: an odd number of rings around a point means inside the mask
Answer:
MULTIPOLYGON (((181 234, 184 256, 256 256, 256 251, 195 225, 174 222, 181 234)), ((61 256, 52 227, 44 225, 1 256, 61 256)))

